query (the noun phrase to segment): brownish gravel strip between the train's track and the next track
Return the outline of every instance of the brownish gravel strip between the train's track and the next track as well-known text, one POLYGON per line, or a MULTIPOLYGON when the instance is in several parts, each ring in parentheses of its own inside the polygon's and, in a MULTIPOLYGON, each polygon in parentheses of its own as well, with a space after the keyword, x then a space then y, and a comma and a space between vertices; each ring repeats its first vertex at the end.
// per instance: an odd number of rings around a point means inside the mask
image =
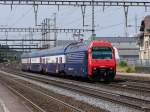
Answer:
MULTIPOLYGON (((39 74, 32 74, 32 73, 27 73, 29 75, 39 75, 39 74)), ((50 80, 58 80, 60 82, 67 82, 69 83, 76 83, 77 85, 82 84, 85 87, 90 87, 93 89, 100 89, 103 91, 108 91, 108 92, 113 92, 116 94, 120 94, 120 95, 126 95, 126 96, 132 96, 135 98, 141 98, 143 100, 150 100, 150 94, 149 93, 145 93, 143 91, 135 91, 132 89, 127 89, 124 86, 126 86, 126 84, 124 83, 123 86, 120 86, 121 83, 115 83, 116 86, 113 86, 112 84, 104 84, 104 83, 87 83, 87 82, 81 82, 81 81, 74 81, 74 80, 69 80, 69 79, 63 79, 63 78, 57 78, 57 77, 49 77, 49 76, 43 76, 40 75, 40 77, 44 77, 50 80), (120 86, 120 87, 119 87, 120 86)), ((127 82, 128 83, 128 82, 127 82)))

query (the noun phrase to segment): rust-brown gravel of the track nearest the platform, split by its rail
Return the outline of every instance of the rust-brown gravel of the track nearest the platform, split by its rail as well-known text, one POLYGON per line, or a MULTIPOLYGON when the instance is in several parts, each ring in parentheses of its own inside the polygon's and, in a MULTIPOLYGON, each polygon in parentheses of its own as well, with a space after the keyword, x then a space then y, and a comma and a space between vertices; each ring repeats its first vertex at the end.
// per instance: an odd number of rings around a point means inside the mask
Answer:
MULTIPOLYGON (((41 108, 44 108, 46 110, 46 112, 71 112, 72 111, 72 110, 69 110, 67 108, 62 107, 60 104, 57 104, 57 102, 55 102, 55 101, 48 100, 46 97, 43 97, 43 96, 39 95, 38 93, 33 92, 32 90, 22 88, 17 83, 12 82, 12 80, 6 79, 6 76, 5 76, 5 78, 1 76, 1 79, 3 79, 3 81, 7 82, 7 84, 9 84, 13 88, 15 88, 21 94, 23 94, 27 98, 31 99, 33 102, 38 102, 38 105, 40 105, 41 108)), ((17 80, 19 83, 22 83, 28 87, 38 89, 38 90, 40 90, 44 93, 47 93, 53 97, 56 97, 60 100, 63 100, 63 101, 65 101, 65 102, 67 102, 73 106, 79 107, 86 112, 106 112, 103 109, 100 109, 98 107, 93 107, 92 105, 89 105, 89 104, 81 102, 81 101, 77 101, 71 97, 56 94, 55 92, 53 92, 51 90, 47 90, 47 88, 43 89, 42 86, 39 87, 39 86, 33 85, 33 83, 31 84, 30 82, 23 81, 22 79, 18 79, 18 78, 13 78, 13 79, 17 80)))

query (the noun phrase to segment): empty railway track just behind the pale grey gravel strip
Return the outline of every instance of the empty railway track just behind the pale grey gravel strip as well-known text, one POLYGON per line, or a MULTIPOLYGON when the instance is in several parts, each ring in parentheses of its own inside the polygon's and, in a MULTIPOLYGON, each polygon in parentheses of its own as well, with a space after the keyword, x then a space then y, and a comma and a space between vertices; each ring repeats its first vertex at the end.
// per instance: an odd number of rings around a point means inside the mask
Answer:
MULTIPOLYGON (((11 73, 12 73, 12 71, 11 71, 11 73)), ((67 89, 67 90, 86 94, 86 95, 92 96, 94 98, 100 98, 103 100, 122 104, 122 105, 132 107, 134 109, 138 109, 141 111, 146 111, 146 112, 150 111, 150 101, 149 100, 143 100, 140 98, 134 98, 134 97, 126 96, 126 95, 120 95, 120 94, 116 94, 113 92, 108 92, 108 91, 104 91, 104 90, 100 90, 100 89, 93 89, 93 88, 90 88, 90 87, 87 87, 87 86, 84 86, 81 84, 61 82, 58 80, 51 80, 51 79, 47 79, 47 78, 44 78, 41 76, 29 75, 27 73, 20 73, 20 72, 18 73, 18 72, 13 71, 13 74, 17 75, 17 76, 19 75, 21 77, 25 77, 25 78, 28 78, 31 80, 36 80, 36 81, 43 82, 46 84, 61 87, 61 88, 67 89)))

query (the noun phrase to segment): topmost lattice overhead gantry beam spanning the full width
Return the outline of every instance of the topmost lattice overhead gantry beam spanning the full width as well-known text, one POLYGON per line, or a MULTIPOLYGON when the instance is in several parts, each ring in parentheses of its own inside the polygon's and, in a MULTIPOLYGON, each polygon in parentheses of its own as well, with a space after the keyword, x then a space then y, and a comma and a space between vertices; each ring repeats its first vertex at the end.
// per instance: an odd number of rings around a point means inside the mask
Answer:
POLYGON ((72 6, 145 6, 149 7, 150 2, 142 1, 68 1, 68 0, 1 0, 1 5, 72 5, 72 6))

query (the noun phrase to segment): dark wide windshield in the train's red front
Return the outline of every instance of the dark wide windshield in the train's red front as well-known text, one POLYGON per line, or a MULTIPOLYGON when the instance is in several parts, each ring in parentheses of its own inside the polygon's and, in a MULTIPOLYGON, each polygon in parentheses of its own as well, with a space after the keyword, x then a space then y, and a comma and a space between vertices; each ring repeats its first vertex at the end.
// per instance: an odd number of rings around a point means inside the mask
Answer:
POLYGON ((93 59, 112 59, 112 49, 104 46, 92 47, 93 59))

